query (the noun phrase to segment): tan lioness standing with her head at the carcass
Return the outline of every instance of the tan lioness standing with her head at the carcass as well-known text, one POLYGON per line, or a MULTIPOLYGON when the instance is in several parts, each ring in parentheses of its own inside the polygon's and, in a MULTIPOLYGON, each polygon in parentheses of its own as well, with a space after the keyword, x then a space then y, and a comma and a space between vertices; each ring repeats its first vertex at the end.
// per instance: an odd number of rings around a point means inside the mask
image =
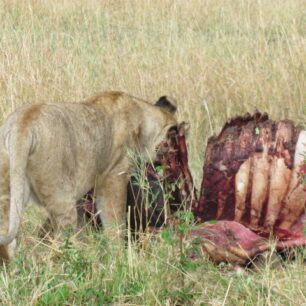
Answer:
POLYGON ((82 103, 25 105, 0 128, 0 256, 11 258, 31 196, 57 230, 77 226, 76 202, 95 186, 104 228, 125 224, 126 148, 156 160, 176 126, 166 97, 151 105, 122 92, 82 103))

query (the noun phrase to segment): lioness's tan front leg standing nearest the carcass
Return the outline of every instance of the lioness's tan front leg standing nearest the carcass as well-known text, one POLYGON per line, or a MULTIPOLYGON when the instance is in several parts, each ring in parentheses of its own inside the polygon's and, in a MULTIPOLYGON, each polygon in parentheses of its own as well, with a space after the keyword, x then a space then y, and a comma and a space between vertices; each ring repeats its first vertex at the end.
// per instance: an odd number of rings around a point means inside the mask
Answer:
POLYGON ((128 175, 118 171, 97 179, 97 209, 107 233, 125 228, 127 183, 128 175))

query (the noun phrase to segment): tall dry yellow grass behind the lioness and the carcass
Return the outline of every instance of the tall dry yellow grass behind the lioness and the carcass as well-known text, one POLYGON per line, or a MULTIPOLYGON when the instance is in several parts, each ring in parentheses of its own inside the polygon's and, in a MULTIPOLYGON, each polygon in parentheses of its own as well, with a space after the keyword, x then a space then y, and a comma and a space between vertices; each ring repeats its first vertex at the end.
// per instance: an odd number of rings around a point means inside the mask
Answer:
POLYGON ((302 0, 2 1, 0 103, 123 90, 179 101, 196 176, 230 116, 305 120, 302 0), (304 106, 304 108, 303 108, 304 106), (302 117, 304 116, 304 117, 302 117))

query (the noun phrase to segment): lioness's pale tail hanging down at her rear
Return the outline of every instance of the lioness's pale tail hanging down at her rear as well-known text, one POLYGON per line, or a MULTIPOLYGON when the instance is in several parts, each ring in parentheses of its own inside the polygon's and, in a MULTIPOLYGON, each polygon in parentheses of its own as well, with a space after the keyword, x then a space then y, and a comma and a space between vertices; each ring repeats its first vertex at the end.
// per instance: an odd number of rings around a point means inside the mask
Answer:
POLYGON ((32 146, 32 136, 24 137, 24 134, 29 134, 29 131, 13 130, 8 143, 10 155, 9 230, 6 235, 0 235, 0 245, 7 245, 15 239, 25 204, 26 168, 32 146), (21 134, 23 134, 22 137, 21 134))

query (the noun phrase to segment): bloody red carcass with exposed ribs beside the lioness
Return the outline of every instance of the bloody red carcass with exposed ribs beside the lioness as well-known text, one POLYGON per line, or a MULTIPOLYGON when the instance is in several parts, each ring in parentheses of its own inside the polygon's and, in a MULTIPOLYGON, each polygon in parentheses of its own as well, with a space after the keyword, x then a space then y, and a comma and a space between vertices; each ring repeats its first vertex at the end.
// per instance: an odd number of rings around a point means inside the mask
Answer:
MULTIPOLYGON (((167 150, 160 163, 164 190, 171 195, 170 211, 183 206, 203 223, 190 235, 203 238, 203 249, 216 262, 241 262, 263 252, 270 248, 271 236, 277 249, 306 244, 306 131, 301 127, 258 112, 229 120, 218 136, 208 140, 198 199, 188 167, 184 123, 163 145, 167 150), (208 220, 217 221, 204 223, 208 220)), ((148 166, 148 181, 156 182, 157 176, 148 166)), ((153 193, 162 192, 160 186, 152 186, 153 193)), ((129 198, 128 204, 143 211, 141 188, 130 184, 129 189, 137 197, 129 198)), ((144 213, 149 226, 165 223, 159 210, 164 201, 163 196, 156 197, 153 210, 144 213), (155 220, 157 216, 162 222, 155 220)))

